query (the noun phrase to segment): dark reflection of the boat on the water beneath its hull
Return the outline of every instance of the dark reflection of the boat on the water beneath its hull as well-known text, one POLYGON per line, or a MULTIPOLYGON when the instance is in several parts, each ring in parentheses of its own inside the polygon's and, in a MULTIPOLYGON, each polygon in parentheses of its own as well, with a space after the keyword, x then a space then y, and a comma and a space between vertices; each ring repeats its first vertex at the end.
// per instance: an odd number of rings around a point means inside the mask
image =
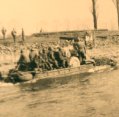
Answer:
POLYGON ((46 89, 53 89, 57 88, 58 86, 70 84, 77 82, 78 85, 88 85, 90 83, 90 80, 88 76, 90 76, 91 73, 82 73, 62 78, 45 78, 42 80, 39 80, 37 82, 31 82, 29 84, 21 84, 20 88, 24 91, 39 91, 39 90, 46 90, 46 89))

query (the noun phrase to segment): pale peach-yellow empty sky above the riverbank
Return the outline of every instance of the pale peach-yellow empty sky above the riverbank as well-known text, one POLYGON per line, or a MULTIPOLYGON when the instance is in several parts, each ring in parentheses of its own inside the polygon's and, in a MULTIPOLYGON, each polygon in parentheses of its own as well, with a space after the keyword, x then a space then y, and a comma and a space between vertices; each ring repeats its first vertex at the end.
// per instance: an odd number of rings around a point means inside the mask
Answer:
MULTIPOLYGON (((117 29, 112 0, 97 2, 98 28, 117 29)), ((91 0, 0 0, 0 29, 26 34, 44 31, 93 29, 91 0)))

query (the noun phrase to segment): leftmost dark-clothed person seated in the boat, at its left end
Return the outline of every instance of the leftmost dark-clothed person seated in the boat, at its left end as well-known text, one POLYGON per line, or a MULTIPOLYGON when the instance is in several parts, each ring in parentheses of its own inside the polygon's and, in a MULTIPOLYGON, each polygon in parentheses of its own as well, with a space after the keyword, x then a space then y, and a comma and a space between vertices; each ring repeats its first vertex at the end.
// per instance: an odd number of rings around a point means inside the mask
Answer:
POLYGON ((16 69, 20 71, 27 71, 29 68, 29 63, 30 63, 29 56, 25 54, 24 50, 21 50, 21 55, 19 61, 17 62, 16 69))

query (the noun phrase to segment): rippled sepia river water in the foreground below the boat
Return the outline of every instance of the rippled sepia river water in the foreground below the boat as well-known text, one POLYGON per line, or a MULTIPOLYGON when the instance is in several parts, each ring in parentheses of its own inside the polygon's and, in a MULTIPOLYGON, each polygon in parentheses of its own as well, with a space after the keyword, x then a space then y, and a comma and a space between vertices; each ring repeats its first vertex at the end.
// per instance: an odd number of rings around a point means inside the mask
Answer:
POLYGON ((1 83, 0 117, 119 117, 119 70, 40 83, 1 83))

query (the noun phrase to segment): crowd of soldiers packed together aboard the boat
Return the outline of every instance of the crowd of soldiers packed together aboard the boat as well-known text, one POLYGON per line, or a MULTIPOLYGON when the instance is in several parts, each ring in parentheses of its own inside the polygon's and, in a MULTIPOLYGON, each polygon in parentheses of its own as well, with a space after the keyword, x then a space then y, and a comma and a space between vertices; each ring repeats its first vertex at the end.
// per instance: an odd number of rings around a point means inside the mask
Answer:
POLYGON ((28 53, 25 49, 21 50, 16 67, 20 71, 53 70, 80 66, 86 62, 86 49, 78 38, 74 42, 66 41, 64 44, 54 42, 50 46, 41 43, 27 50, 28 53))

